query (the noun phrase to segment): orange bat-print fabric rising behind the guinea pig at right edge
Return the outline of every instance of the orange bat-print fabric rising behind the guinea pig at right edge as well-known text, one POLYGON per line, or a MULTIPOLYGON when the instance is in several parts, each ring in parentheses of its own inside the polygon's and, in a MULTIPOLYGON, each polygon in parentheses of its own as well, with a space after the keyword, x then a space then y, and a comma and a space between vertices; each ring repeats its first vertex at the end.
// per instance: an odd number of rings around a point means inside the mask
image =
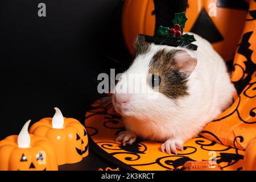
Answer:
POLYGON ((256 19, 252 16, 255 11, 256 2, 252 0, 234 57, 232 81, 238 92, 243 91, 234 104, 201 133, 210 140, 242 150, 256 137, 256 19))

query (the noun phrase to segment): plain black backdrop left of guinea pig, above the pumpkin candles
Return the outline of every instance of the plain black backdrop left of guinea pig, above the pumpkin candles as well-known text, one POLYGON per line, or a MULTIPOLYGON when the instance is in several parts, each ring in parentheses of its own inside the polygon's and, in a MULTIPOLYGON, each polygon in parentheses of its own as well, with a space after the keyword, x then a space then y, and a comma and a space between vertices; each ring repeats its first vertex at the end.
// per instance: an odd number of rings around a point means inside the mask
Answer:
POLYGON ((99 73, 126 69, 121 0, 1 0, 0 140, 53 107, 84 123, 99 73), (46 4, 46 17, 38 4, 46 4), (114 61, 114 60, 117 61, 114 61))

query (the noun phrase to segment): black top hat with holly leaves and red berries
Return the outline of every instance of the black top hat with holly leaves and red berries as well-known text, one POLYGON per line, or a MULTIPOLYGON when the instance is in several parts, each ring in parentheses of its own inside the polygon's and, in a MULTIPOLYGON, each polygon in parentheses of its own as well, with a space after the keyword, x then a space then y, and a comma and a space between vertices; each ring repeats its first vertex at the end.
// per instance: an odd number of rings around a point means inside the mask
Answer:
POLYGON ((191 44, 196 41, 193 35, 183 34, 187 17, 187 0, 154 0, 155 4, 155 34, 143 35, 150 43, 167 46, 184 46, 195 50, 197 46, 191 44))

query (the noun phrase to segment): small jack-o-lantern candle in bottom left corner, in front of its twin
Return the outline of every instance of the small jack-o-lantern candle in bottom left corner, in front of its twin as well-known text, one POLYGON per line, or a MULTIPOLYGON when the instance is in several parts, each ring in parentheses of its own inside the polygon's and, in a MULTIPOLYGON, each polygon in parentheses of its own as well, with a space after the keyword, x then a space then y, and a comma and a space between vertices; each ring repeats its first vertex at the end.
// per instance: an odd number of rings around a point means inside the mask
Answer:
POLYGON ((28 134, 26 122, 19 135, 11 135, 0 141, 0 170, 56 171, 55 151, 45 137, 28 134))

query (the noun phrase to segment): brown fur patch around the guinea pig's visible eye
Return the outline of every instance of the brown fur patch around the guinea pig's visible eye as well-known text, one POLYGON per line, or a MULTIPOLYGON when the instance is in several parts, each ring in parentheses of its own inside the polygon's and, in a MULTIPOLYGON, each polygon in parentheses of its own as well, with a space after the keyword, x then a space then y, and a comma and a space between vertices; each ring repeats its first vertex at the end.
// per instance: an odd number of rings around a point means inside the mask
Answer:
POLYGON ((173 99, 188 95, 186 80, 188 75, 179 72, 174 60, 176 53, 179 53, 179 50, 166 51, 166 49, 162 49, 156 52, 152 57, 148 71, 148 73, 157 73, 160 76, 159 92, 173 99))

